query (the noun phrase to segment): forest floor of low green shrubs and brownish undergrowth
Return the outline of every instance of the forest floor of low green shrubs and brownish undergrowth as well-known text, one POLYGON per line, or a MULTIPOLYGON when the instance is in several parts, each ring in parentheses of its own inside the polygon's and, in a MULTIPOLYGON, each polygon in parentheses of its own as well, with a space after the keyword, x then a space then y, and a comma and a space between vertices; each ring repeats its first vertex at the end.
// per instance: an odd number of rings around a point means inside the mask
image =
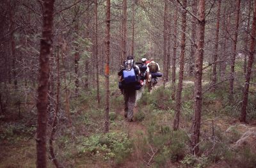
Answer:
MULTIPOLYGON (((65 167, 256 167, 256 154, 237 141, 256 129, 251 115, 248 124, 239 123, 237 104, 227 105, 223 88, 205 93, 202 107, 201 154, 189 154, 189 132, 193 118, 193 81, 184 80, 180 131, 172 131, 175 102, 170 100, 170 84, 160 80, 151 94, 145 93, 134 109, 134 121, 124 118, 120 91, 111 92, 110 133, 102 134, 104 110, 90 107, 87 97, 71 109, 73 127, 60 125, 56 153, 65 167), (106 145, 105 145, 106 144, 106 145)), ((114 85, 114 84, 113 84, 114 85)), ((204 89, 209 82, 203 82, 204 89)), ((93 99, 93 98, 92 98, 93 99)), ((93 100, 94 101, 94 100, 93 100)), ((72 103, 72 102, 71 102, 72 103)), ((74 103, 74 102, 73 102, 74 103)), ((16 114, 17 116, 17 114, 16 114)), ((7 120, 0 127, 0 167, 36 167, 35 113, 29 119, 7 120)), ((66 119, 67 120, 67 119, 66 119)), ((62 121, 67 124, 67 122, 62 121)), ((251 139, 253 141, 253 139, 251 139)), ((251 143, 247 142, 246 143, 251 143)), ((255 143, 251 143, 254 148, 255 143)), ((256 149, 256 146, 255 146, 256 149)), ((50 158, 50 157, 49 157, 50 158)), ((48 167, 54 167, 49 159, 48 167)))

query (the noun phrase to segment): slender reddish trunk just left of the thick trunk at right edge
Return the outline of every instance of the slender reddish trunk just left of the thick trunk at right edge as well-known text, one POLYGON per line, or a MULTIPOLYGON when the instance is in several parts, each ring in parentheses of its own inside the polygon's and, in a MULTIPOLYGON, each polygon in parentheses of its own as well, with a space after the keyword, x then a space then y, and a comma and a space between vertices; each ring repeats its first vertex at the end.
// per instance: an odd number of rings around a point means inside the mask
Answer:
POLYGON ((233 102, 233 94, 234 94, 234 73, 235 73, 235 61, 236 61, 236 45, 237 45, 237 34, 238 34, 238 27, 239 27, 239 14, 240 14, 240 3, 241 0, 236 1, 236 29, 234 34, 234 45, 233 45, 233 54, 231 58, 231 65, 230 65, 230 82, 229 82, 229 99, 230 103, 233 102))

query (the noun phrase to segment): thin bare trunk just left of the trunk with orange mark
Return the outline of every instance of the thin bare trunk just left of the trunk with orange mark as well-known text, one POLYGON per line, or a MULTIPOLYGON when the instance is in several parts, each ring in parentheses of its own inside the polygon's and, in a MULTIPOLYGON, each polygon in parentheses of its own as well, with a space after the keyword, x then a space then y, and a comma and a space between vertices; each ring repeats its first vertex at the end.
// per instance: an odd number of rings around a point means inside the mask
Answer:
POLYGON ((95 0, 95 62, 97 80, 97 100, 100 105, 100 84, 99 84, 99 60, 98 60, 98 0, 95 0))

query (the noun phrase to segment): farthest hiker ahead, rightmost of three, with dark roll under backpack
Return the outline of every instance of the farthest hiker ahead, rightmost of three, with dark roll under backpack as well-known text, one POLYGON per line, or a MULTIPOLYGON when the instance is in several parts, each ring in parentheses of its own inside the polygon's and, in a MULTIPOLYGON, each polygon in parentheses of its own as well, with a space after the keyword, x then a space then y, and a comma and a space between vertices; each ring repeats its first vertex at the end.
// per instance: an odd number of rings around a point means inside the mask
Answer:
POLYGON ((149 68, 149 79, 148 79, 148 91, 152 89, 152 86, 157 84, 157 77, 162 77, 162 73, 159 72, 159 64, 154 61, 154 57, 150 58, 150 63, 147 63, 149 68))

